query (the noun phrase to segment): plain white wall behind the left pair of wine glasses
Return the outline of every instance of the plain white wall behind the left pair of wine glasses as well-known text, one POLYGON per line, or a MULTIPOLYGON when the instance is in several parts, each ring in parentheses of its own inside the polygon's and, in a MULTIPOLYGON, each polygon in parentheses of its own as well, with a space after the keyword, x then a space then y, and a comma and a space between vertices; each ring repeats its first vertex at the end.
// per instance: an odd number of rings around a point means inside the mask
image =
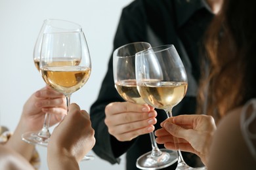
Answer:
MULTIPOLYGON (((89 111, 106 73, 121 9, 131 0, 0 0, 0 124, 14 130, 25 101, 45 82, 33 64, 33 46, 43 20, 58 18, 83 27, 92 60, 87 84, 71 102, 89 111)), ((48 169, 46 148, 38 146, 41 169, 48 169)), ((93 151, 89 152, 93 154, 93 151)), ((80 163, 81 169, 125 169, 96 157, 80 163)))

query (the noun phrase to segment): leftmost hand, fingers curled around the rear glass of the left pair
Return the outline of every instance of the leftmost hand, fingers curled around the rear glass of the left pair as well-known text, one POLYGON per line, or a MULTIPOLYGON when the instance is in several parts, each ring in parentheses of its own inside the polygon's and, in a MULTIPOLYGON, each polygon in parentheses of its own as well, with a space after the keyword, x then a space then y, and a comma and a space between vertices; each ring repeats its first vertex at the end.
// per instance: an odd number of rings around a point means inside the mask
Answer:
POLYGON ((37 131, 41 129, 46 112, 51 115, 50 126, 60 122, 62 116, 67 113, 65 96, 49 86, 45 86, 33 93, 28 101, 26 101, 20 119, 23 131, 37 131))

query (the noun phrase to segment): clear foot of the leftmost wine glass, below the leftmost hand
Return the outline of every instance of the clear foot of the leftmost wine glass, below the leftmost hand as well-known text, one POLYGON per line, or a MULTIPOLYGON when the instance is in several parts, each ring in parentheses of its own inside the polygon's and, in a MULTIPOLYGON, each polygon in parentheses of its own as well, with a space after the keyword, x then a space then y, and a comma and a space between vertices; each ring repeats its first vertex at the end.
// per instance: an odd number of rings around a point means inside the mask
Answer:
POLYGON ((30 144, 37 144, 40 146, 47 147, 49 137, 43 137, 39 134, 40 134, 40 131, 26 132, 22 134, 22 141, 25 141, 26 143, 30 143, 30 144))

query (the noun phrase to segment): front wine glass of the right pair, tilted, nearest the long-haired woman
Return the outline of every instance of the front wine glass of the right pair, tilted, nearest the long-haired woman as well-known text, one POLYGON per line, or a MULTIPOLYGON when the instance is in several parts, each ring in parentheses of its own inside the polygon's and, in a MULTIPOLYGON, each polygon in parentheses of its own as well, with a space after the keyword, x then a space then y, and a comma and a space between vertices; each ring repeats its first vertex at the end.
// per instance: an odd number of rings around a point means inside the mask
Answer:
MULTIPOLYGON (((181 102, 188 87, 186 71, 175 46, 168 44, 138 52, 135 63, 140 96, 148 105, 165 110, 167 117, 171 117, 173 107, 181 102)), ((181 150, 177 154, 177 169, 205 169, 188 166, 181 150)))

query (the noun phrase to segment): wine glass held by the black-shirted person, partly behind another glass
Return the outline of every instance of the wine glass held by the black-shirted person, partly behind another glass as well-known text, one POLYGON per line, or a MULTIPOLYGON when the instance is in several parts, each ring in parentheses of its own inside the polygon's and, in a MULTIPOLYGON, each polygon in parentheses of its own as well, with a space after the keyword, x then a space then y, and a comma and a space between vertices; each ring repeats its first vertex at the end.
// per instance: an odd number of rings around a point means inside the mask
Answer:
MULTIPOLYGON (((117 48, 113 53, 113 72, 115 87, 125 101, 145 104, 137 90, 135 76, 135 54, 151 48, 148 42, 133 42, 117 48)), ((154 132, 150 132, 152 150, 137 159, 140 169, 160 169, 177 161, 177 154, 172 150, 159 149, 154 132)))

